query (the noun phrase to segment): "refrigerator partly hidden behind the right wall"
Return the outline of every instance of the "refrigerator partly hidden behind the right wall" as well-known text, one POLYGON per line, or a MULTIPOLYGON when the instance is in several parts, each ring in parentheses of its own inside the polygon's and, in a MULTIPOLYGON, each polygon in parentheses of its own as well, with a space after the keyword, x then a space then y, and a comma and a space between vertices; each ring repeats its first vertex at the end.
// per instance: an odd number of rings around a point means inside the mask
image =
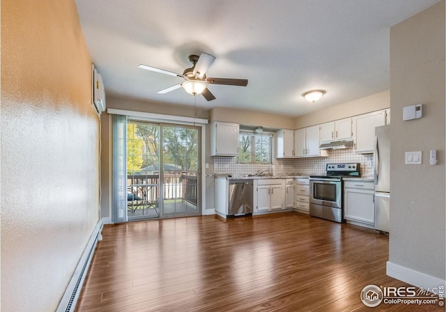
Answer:
POLYGON ((375 230, 390 230, 390 125, 375 127, 375 230))

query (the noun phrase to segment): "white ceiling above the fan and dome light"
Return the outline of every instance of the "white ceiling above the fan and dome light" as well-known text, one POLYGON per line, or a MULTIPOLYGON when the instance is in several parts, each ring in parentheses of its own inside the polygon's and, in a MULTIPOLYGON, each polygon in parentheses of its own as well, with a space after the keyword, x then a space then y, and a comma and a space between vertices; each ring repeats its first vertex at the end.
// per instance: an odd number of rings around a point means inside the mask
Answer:
POLYGON ((197 107, 233 107, 299 116, 390 88, 390 26, 438 0, 76 0, 91 59, 107 95, 194 104, 183 79, 187 56, 217 59, 208 77, 248 79, 210 85, 217 98, 197 107), (324 89, 311 104, 302 93, 324 89))

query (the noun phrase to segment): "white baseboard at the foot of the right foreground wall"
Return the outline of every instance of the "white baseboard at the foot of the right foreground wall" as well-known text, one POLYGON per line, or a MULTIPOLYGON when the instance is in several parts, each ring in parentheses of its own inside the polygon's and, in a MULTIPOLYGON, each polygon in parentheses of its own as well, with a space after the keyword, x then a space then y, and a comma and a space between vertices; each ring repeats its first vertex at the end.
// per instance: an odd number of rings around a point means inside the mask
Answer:
POLYGON ((386 274, 394 279, 399 279, 400 281, 426 290, 436 288, 440 285, 445 286, 445 280, 391 263, 390 261, 387 261, 386 274))

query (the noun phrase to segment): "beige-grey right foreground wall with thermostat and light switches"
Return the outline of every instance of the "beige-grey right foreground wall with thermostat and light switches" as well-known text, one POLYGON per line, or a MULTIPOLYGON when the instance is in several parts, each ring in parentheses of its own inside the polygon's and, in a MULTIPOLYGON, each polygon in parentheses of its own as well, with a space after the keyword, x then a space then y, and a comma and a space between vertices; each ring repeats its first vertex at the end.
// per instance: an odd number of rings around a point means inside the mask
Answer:
POLYGON ((389 262, 444 283, 445 1, 390 29, 390 90, 389 262), (423 117, 403 121, 403 107, 417 103, 423 117), (421 165, 404 164, 412 150, 422 151, 421 165), (436 166, 429 150, 437 150, 436 166))

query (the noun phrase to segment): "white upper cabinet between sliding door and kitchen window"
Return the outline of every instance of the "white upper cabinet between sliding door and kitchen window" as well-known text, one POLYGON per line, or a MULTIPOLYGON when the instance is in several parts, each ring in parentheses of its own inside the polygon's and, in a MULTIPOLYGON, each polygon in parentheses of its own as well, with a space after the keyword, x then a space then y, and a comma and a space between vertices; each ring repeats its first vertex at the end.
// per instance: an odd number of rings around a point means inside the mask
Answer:
POLYGON ((210 156, 238 155, 238 123, 210 123, 210 156))

